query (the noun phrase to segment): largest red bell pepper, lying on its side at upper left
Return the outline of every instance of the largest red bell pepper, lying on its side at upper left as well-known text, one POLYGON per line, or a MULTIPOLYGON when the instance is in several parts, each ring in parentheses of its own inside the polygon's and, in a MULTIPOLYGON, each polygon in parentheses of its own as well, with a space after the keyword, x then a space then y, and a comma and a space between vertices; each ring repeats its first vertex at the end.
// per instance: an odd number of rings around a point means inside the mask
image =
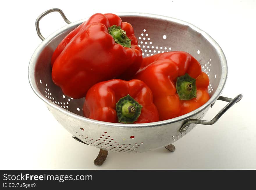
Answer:
POLYGON ((97 82, 131 78, 142 63, 141 48, 137 44, 131 24, 122 22, 119 16, 92 15, 70 32, 54 51, 52 80, 65 95, 82 98, 97 82), (117 43, 118 39, 109 33, 111 26, 120 26, 120 30, 114 31, 115 35, 126 40, 130 47, 117 43))

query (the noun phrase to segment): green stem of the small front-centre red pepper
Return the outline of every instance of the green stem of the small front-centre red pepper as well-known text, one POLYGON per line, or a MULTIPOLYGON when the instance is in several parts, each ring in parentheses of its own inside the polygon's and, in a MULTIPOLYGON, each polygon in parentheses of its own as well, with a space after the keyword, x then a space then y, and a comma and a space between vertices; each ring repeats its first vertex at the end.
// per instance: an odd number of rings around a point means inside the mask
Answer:
POLYGON ((116 104, 116 113, 119 123, 133 123, 141 115, 142 106, 129 94, 120 98, 116 104))

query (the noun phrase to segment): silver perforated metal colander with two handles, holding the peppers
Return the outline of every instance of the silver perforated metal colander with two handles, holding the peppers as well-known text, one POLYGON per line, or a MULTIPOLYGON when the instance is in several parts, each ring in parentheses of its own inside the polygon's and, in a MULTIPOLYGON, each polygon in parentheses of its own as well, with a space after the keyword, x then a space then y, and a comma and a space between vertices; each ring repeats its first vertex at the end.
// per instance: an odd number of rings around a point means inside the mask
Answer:
MULTIPOLYGON (((189 133, 196 124, 213 124, 242 95, 221 97, 227 78, 227 62, 220 46, 207 33, 190 23, 178 19, 144 13, 117 13, 122 21, 134 28, 143 57, 167 51, 186 51, 201 64, 209 76, 209 101, 200 108, 170 120, 145 124, 119 124, 101 122, 83 117, 84 98, 65 96, 51 79, 51 56, 61 40, 86 19, 70 23, 59 9, 44 12, 36 20, 36 29, 43 40, 29 63, 29 82, 33 91, 47 105, 56 120, 80 142, 104 151, 141 153, 171 144, 189 133), (44 39, 39 30, 40 19, 49 12, 58 11, 67 26, 44 39), (211 121, 201 120, 217 99, 230 102, 211 121)), ((171 146, 171 147, 170 147, 171 146)), ((174 150, 174 149, 172 149, 174 150)))

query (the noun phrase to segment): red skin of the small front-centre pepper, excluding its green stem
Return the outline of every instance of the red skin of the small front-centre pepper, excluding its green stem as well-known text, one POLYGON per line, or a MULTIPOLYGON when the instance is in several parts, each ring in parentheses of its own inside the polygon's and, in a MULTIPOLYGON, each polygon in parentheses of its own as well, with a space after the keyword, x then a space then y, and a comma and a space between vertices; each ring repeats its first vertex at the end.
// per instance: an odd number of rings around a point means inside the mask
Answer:
POLYGON ((142 106, 140 115, 133 123, 159 121, 158 111, 153 103, 150 88, 137 79, 130 81, 112 79, 95 84, 86 94, 83 115, 94 120, 118 123, 117 103, 127 95, 134 98, 142 106))

